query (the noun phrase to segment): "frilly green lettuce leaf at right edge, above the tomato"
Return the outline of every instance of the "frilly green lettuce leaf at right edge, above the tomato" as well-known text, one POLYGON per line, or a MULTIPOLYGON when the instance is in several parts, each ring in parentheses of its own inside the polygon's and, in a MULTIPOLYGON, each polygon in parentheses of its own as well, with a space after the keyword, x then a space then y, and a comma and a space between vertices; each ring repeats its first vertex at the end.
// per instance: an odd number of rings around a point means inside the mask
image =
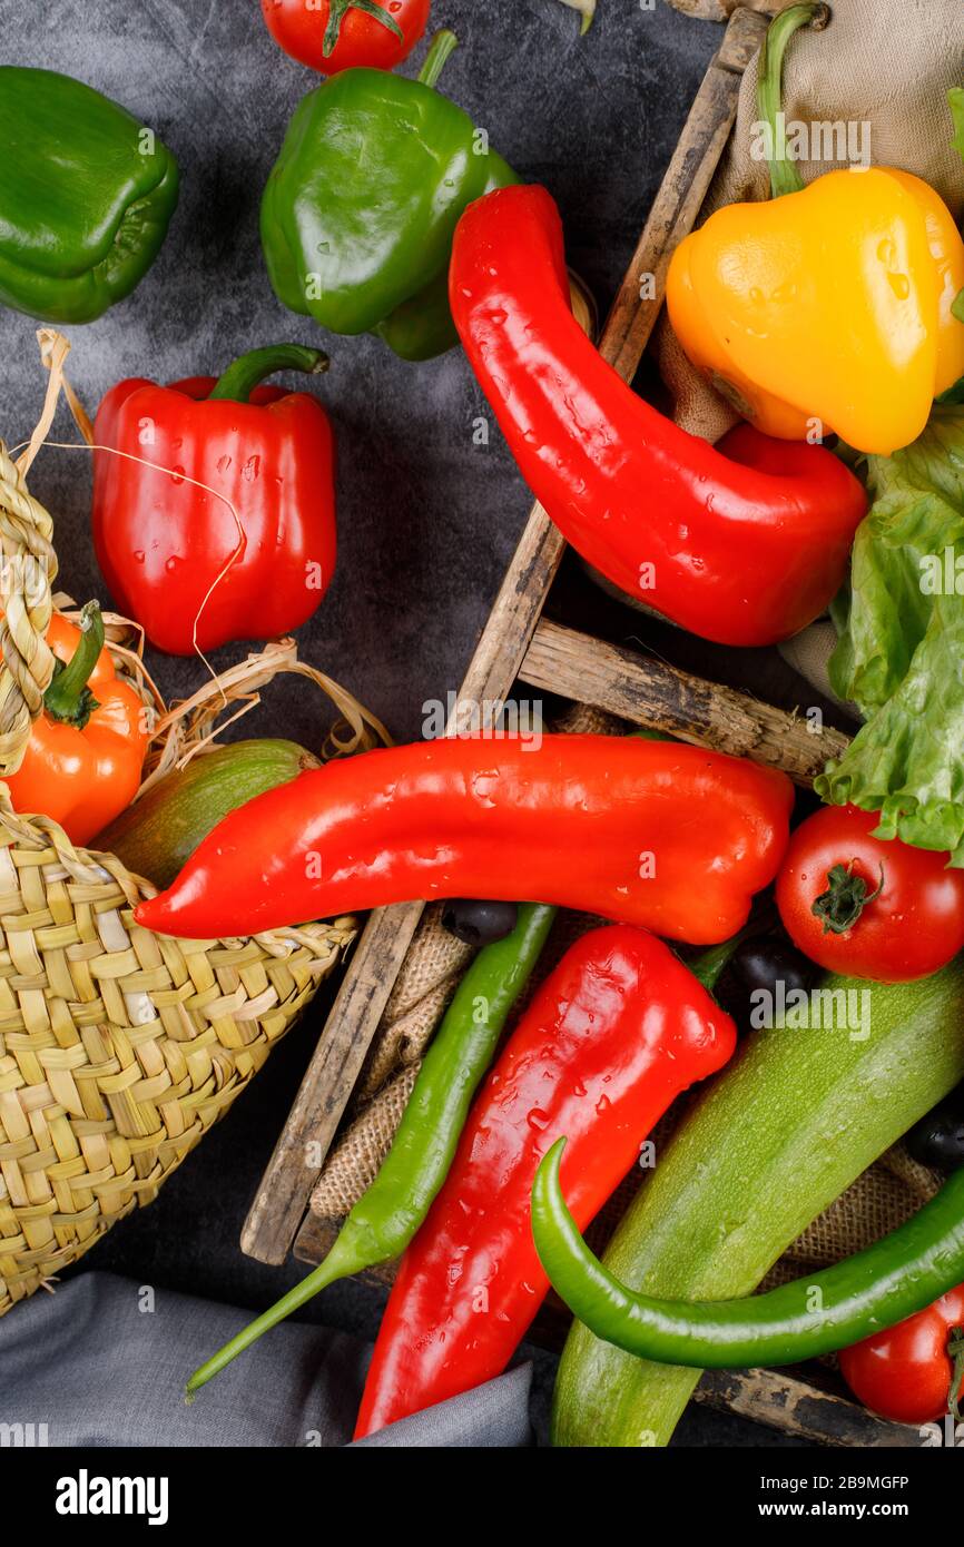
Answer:
POLYGON ((867 724, 815 789, 879 811, 879 837, 964 865, 964 407, 936 407, 913 446, 870 456, 867 475, 873 504, 829 668, 867 724))

